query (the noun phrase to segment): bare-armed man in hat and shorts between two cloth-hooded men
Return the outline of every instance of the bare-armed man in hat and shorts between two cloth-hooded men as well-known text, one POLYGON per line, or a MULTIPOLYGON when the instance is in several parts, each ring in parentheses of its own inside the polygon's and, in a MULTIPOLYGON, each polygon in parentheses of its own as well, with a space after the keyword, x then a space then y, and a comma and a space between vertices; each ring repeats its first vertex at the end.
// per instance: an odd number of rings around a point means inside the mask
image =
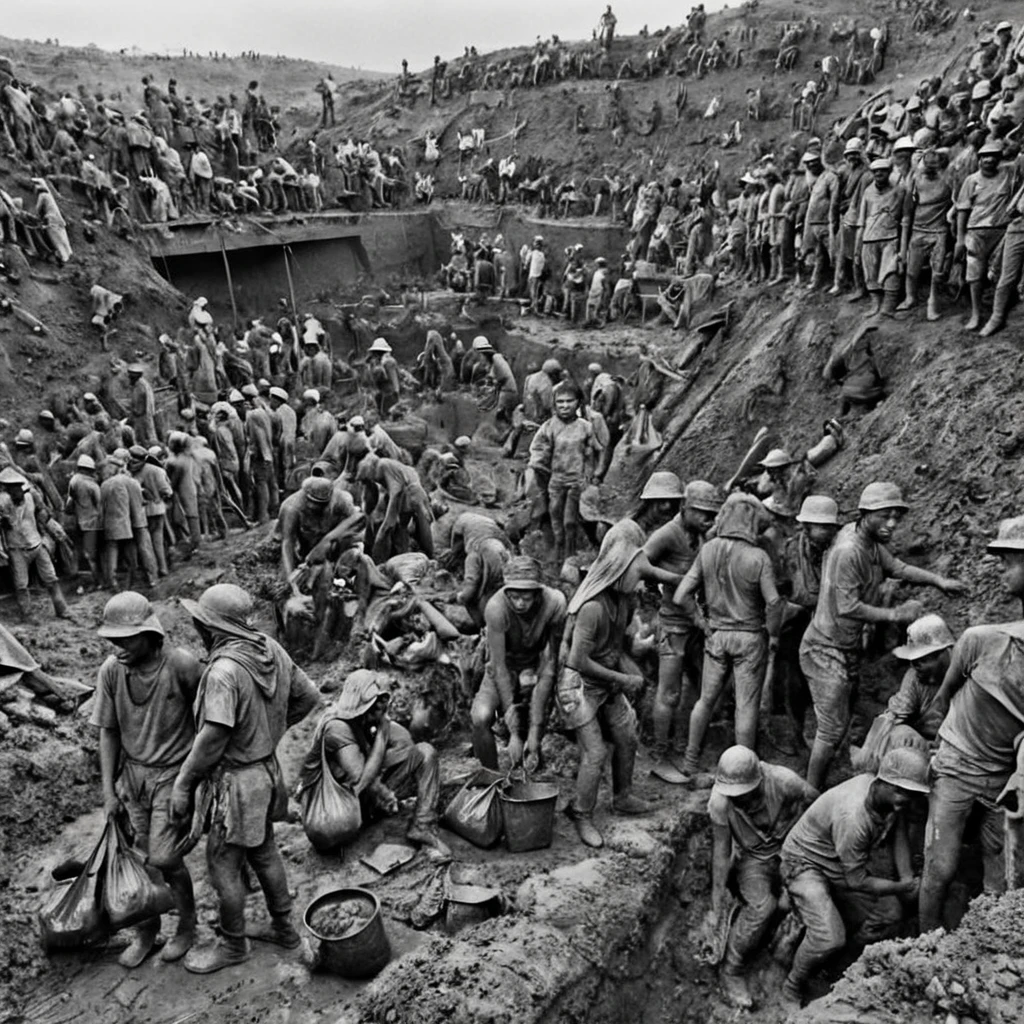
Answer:
MULTIPOLYGON (((718 488, 707 480, 691 480, 680 496, 682 509, 650 535, 643 550, 651 565, 685 577, 722 507, 722 500, 718 488)), ((657 692, 651 713, 654 727, 651 774, 663 782, 681 785, 686 776, 677 762, 682 763, 686 754, 703 644, 692 617, 673 600, 674 593, 675 587, 663 584, 657 611, 657 692), (670 752, 673 732, 675 740, 670 752)))

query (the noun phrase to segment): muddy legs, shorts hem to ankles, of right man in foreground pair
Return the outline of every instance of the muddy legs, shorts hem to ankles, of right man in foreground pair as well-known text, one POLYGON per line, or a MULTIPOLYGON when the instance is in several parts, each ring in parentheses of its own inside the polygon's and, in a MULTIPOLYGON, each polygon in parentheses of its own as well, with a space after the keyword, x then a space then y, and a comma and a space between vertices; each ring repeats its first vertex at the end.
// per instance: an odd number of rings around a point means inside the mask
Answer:
POLYGON ((271 918, 287 918, 292 912, 285 862, 273 839, 273 825, 267 822, 266 836, 259 846, 244 847, 228 843, 224 826, 214 822, 206 843, 206 864, 220 901, 220 929, 226 936, 246 934, 246 861, 256 872, 271 918))

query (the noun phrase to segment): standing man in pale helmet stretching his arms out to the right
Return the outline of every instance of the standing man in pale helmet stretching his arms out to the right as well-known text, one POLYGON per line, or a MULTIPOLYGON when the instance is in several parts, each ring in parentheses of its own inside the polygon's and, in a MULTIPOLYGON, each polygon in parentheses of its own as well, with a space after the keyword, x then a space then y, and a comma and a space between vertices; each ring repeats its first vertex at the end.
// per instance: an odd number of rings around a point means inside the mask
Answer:
POLYGON ((821 592, 811 625, 800 645, 800 668, 807 678, 818 728, 807 781, 824 786, 828 766, 850 727, 860 681, 861 634, 865 623, 909 625, 924 613, 920 601, 894 608, 881 603, 887 577, 944 594, 962 594, 958 580, 907 565, 889 552, 889 542, 909 506, 894 483, 876 481, 861 492, 856 522, 844 526, 825 555, 821 592))

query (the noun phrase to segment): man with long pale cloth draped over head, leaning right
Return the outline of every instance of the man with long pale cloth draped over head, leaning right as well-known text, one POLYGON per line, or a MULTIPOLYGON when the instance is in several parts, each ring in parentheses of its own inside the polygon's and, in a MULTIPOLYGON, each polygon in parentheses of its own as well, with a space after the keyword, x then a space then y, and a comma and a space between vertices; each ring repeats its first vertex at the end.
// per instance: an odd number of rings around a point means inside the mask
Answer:
POLYGON ((643 676, 627 654, 626 631, 636 606, 645 563, 638 526, 609 534, 580 589, 568 604, 559 650, 555 694, 565 725, 575 730, 580 768, 575 795, 565 813, 585 846, 604 838, 594 824, 597 792, 611 743, 611 809, 615 814, 646 814, 650 805, 633 792, 637 720, 628 696, 643 686, 643 676))

